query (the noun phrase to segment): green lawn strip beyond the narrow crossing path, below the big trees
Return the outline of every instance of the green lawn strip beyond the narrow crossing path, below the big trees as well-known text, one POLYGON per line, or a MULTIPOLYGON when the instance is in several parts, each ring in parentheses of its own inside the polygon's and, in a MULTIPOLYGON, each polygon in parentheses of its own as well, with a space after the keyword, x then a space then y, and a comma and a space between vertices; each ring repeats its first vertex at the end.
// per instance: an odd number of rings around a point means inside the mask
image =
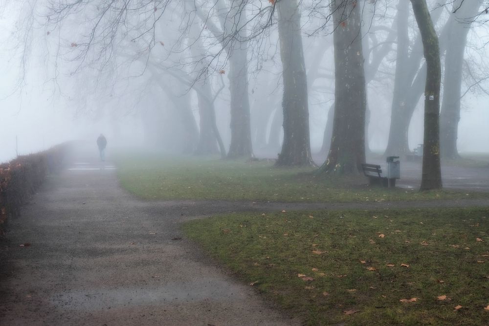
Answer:
POLYGON ((338 179, 313 174, 311 168, 274 168, 266 161, 118 154, 115 162, 121 184, 144 199, 351 202, 489 197, 481 192, 467 196, 467 192, 368 187, 363 175, 338 179))

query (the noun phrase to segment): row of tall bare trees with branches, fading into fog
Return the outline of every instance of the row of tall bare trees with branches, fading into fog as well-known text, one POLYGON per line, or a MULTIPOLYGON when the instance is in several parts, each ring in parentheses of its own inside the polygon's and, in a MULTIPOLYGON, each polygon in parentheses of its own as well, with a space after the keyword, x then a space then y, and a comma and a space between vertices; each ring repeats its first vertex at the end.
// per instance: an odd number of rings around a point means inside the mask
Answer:
POLYGON ((167 152, 278 153, 278 166, 315 154, 320 171, 355 174, 371 151, 423 143, 422 188, 440 188, 464 103, 488 94, 484 0, 2 5, 21 63, 14 92, 42 72, 77 117, 167 152))

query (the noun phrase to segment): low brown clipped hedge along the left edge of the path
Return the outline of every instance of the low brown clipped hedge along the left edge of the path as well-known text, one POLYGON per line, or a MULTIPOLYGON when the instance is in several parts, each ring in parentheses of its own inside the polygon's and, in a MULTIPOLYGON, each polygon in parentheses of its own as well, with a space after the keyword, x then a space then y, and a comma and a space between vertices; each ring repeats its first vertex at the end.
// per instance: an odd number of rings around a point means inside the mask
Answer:
POLYGON ((22 203, 41 185, 45 176, 63 168, 71 148, 71 143, 63 143, 0 164, 0 236, 5 221, 19 216, 22 203))

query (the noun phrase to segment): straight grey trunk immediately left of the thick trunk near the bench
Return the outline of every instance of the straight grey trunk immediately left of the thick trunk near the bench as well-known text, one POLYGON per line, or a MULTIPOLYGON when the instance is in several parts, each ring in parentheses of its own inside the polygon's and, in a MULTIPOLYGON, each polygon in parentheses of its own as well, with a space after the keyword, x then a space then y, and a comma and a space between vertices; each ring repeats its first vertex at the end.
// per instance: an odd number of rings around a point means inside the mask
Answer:
POLYGON ((277 1, 283 66, 284 143, 277 166, 311 166, 307 76, 297 0, 277 1))

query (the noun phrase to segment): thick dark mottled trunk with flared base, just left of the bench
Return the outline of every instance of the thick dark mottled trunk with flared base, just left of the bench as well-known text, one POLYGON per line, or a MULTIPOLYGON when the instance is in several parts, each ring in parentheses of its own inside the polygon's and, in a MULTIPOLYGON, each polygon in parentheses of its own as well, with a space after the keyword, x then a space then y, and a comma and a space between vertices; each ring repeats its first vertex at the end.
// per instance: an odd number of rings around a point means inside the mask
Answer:
POLYGON ((365 162, 366 87, 361 14, 356 0, 332 0, 334 119, 328 158, 321 171, 357 174, 365 162))

